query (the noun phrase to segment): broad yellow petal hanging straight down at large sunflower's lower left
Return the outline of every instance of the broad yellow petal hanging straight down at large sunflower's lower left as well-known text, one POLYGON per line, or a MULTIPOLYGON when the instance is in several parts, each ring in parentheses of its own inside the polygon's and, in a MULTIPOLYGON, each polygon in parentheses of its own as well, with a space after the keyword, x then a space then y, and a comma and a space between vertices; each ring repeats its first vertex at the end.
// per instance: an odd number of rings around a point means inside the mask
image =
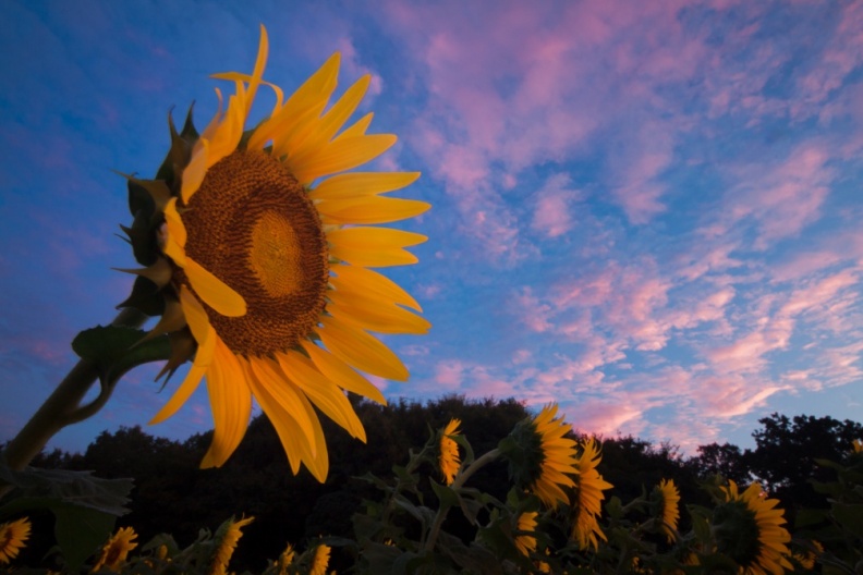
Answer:
POLYGON ((221 341, 216 341, 214 362, 207 369, 207 391, 212 411, 212 443, 200 462, 200 468, 220 467, 248 428, 252 415, 252 392, 243 369, 233 352, 221 341))

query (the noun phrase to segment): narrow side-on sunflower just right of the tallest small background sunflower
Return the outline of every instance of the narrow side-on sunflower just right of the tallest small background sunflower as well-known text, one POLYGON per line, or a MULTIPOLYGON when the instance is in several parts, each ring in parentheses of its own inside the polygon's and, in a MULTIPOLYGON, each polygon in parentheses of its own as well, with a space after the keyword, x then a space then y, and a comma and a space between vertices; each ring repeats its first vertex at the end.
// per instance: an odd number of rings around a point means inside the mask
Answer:
POLYGON ((596 550, 599 547, 597 537, 603 541, 608 540, 596 521, 603 511, 600 504, 605 499, 603 491, 611 489, 613 486, 603 479, 603 476, 596 470, 596 466, 603 460, 596 440, 591 438, 582 446, 575 496, 571 502, 572 539, 579 543, 581 549, 591 546, 596 550))

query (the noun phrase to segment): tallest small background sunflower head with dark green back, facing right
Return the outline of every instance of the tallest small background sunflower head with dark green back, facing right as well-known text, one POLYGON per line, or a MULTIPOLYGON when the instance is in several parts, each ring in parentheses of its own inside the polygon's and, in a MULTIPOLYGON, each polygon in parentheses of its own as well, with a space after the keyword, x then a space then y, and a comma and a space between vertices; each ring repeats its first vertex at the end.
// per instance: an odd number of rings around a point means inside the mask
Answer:
POLYGON ((575 485, 571 476, 578 473, 575 441, 564 437, 571 428, 562 417, 555 417, 557 409, 557 404, 546 405, 535 417, 520 421, 499 444, 513 481, 549 507, 567 501, 563 488, 575 485))

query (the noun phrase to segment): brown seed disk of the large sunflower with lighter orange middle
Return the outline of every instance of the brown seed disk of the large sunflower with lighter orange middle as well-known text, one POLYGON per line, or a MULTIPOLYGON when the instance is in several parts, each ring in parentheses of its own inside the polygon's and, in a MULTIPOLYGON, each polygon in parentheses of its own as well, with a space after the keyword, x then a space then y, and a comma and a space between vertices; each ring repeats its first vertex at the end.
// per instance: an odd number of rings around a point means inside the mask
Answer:
POLYGON ((228 347, 263 356, 296 346, 318 323, 327 238, 305 189, 269 155, 235 151, 207 171, 182 216, 186 254, 246 302, 229 318, 205 305, 228 347))

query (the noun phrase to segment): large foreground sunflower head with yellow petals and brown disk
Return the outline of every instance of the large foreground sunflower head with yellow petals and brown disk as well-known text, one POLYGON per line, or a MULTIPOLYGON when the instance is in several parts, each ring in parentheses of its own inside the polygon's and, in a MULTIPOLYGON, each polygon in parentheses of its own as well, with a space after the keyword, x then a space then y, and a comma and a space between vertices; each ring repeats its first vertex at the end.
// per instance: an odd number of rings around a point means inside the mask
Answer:
POLYGON ((357 370, 406 380, 399 357, 368 331, 425 333, 418 304, 369 268, 414 264, 404 248, 426 240, 367 224, 411 218, 428 204, 380 194, 416 172, 348 172, 381 155, 396 136, 366 134, 372 113, 341 130, 368 85, 363 76, 328 107, 339 53, 290 98, 263 79, 266 29, 252 74, 229 72, 235 94, 198 135, 173 123, 156 180, 130 176, 133 225, 124 228, 145 269, 121 306, 161 315, 147 334, 168 333, 159 377, 193 359, 150 424, 172 416, 206 379, 212 443, 202 467, 218 467, 242 440, 253 397, 272 421, 291 469, 324 481, 329 463, 316 408, 353 437, 365 430, 345 391, 385 404, 357 370), (244 132, 255 96, 272 88, 269 117, 244 132), (340 132, 341 131, 341 132, 340 132))

